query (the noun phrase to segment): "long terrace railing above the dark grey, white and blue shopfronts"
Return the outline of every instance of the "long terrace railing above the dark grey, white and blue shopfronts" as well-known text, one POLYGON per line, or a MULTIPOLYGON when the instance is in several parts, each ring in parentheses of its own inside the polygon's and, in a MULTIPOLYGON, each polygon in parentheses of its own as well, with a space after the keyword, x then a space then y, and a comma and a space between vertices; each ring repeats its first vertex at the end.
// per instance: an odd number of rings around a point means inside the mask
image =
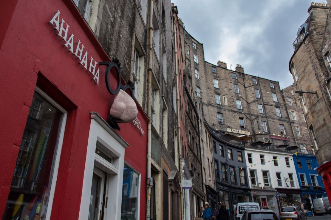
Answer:
MULTIPOLYGON (((285 152, 288 154, 293 154, 298 152, 298 154, 305 154, 305 155, 315 155, 315 153, 312 150, 307 150, 306 148, 296 148, 296 149, 286 149, 285 147, 277 147, 277 145, 273 144, 264 144, 264 143, 257 143, 253 140, 248 141, 238 141, 234 140, 231 137, 227 137, 225 135, 222 135, 220 133, 214 134, 217 138, 226 141, 228 143, 242 146, 242 147, 249 147, 253 149, 260 149, 260 150, 269 150, 269 151, 278 151, 278 152, 285 152)), ((264 140, 261 140, 260 142, 263 142, 264 140)))

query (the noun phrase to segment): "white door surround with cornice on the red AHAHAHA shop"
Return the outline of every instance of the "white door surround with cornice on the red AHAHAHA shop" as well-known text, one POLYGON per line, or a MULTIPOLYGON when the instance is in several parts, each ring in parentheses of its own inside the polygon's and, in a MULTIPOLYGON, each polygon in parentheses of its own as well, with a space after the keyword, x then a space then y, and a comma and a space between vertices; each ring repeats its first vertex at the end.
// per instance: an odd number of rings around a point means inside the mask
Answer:
MULTIPOLYGON (((119 219, 121 215, 122 183, 124 169, 124 152, 128 144, 113 130, 98 114, 91 113, 91 124, 87 143, 85 169, 82 185, 81 202, 79 209, 79 219, 86 219, 89 214, 92 176, 94 167, 103 168, 106 173, 112 174, 112 181, 109 182, 107 216, 112 219, 119 219), (99 155, 96 155, 96 143, 112 153, 112 157, 117 160, 110 164, 99 155), (108 143, 111 143, 109 145, 108 143)), ((140 188, 140 187, 139 187, 140 188)), ((139 191, 138 191, 138 196, 139 191)), ((138 198, 140 201, 140 198, 138 198)), ((139 203, 138 201, 138 203, 139 203)), ((139 204, 137 207, 140 207, 139 204)), ((105 216, 105 217, 107 217, 105 216)))

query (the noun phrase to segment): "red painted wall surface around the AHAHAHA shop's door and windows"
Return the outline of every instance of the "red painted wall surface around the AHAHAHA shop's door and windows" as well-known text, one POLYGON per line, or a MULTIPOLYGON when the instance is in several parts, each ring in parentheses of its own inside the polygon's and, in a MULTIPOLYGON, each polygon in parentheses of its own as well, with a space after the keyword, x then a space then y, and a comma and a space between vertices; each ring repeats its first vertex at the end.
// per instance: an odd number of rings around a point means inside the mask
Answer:
MULTIPOLYGON (((23 131, 35 86, 68 110, 52 219, 78 219, 80 195, 90 127, 90 111, 107 120, 114 101, 105 85, 105 66, 99 66, 99 84, 82 69, 77 57, 63 47, 65 41, 48 22, 60 10, 69 34, 78 38, 97 62, 110 60, 71 0, 19 1, 5 14, 0 30, 0 216, 3 215, 23 131)), ((75 48, 75 46, 74 46, 75 48)), ((117 80, 111 76, 112 88, 117 80)), ((129 143, 125 161, 141 173, 140 218, 145 218, 147 117, 138 105, 145 136, 129 123, 119 124, 118 134, 129 143)))

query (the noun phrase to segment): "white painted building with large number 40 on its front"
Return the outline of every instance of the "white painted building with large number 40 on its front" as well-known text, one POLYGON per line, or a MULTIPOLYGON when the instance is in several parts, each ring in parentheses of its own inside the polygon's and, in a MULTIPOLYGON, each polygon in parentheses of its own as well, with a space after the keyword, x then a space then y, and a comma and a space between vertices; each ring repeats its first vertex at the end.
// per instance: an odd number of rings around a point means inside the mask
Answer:
POLYGON ((245 149, 245 156, 253 201, 260 203, 261 208, 267 206, 279 213, 278 204, 281 207, 301 203, 292 155, 252 147, 245 149))

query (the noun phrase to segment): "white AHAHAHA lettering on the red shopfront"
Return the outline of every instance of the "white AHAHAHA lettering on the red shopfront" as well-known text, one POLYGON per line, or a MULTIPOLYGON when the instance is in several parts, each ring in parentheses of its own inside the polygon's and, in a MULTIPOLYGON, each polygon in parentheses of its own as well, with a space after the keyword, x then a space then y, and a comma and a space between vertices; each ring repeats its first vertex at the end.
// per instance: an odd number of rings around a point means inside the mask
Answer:
POLYGON ((64 46, 66 46, 69 49, 69 51, 80 60, 80 65, 82 65, 83 68, 88 70, 93 75, 94 77, 93 80, 97 84, 99 84, 99 68, 97 68, 97 61, 95 61, 92 56, 89 56, 90 65, 88 66, 88 61, 87 61, 88 52, 86 48, 84 47, 82 42, 80 42, 79 38, 78 41, 77 38, 74 39, 73 33, 71 33, 69 39, 67 39, 70 26, 64 21, 63 17, 61 17, 61 22, 60 22, 60 14, 61 12, 58 10, 58 12, 55 14, 52 20, 49 21, 49 23, 51 23, 55 27, 55 29, 59 32, 58 35, 62 37, 63 40, 66 42, 64 46), (84 55, 83 52, 85 52, 84 55))

